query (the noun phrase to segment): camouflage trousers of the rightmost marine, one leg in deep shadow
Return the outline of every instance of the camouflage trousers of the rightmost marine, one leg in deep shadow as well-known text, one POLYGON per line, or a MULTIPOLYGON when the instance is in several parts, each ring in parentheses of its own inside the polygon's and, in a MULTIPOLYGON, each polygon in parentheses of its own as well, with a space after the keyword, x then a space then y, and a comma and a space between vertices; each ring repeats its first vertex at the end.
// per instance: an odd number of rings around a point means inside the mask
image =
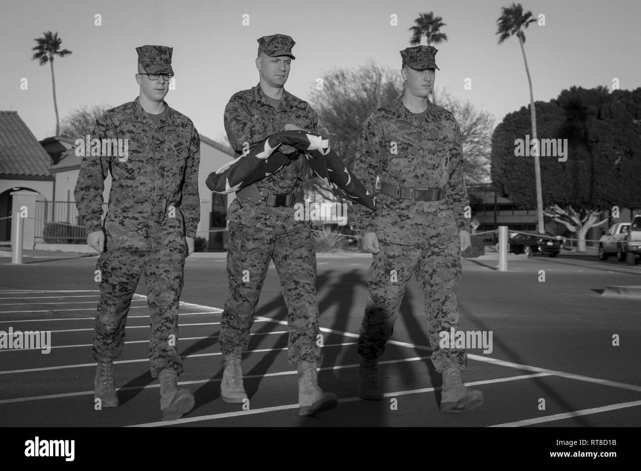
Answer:
MULTIPOLYGON (((429 231, 431 232, 431 231, 429 231)), ((461 249, 458 233, 453 231, 426 237, 417 246, 380 242, 369 268, 369 299, 358 338, 358 353, 363 358, 378 358, 385 342, 394 333, 394 322, 408 281, 415 274, 425 298, 431 360, 438 372, 458 363, 467 366, 464 349, 440 349, 441 331, 458 327, 456 292, 461 279, 461 249), (392 271, 394 270, 394 271, 392 271)))

